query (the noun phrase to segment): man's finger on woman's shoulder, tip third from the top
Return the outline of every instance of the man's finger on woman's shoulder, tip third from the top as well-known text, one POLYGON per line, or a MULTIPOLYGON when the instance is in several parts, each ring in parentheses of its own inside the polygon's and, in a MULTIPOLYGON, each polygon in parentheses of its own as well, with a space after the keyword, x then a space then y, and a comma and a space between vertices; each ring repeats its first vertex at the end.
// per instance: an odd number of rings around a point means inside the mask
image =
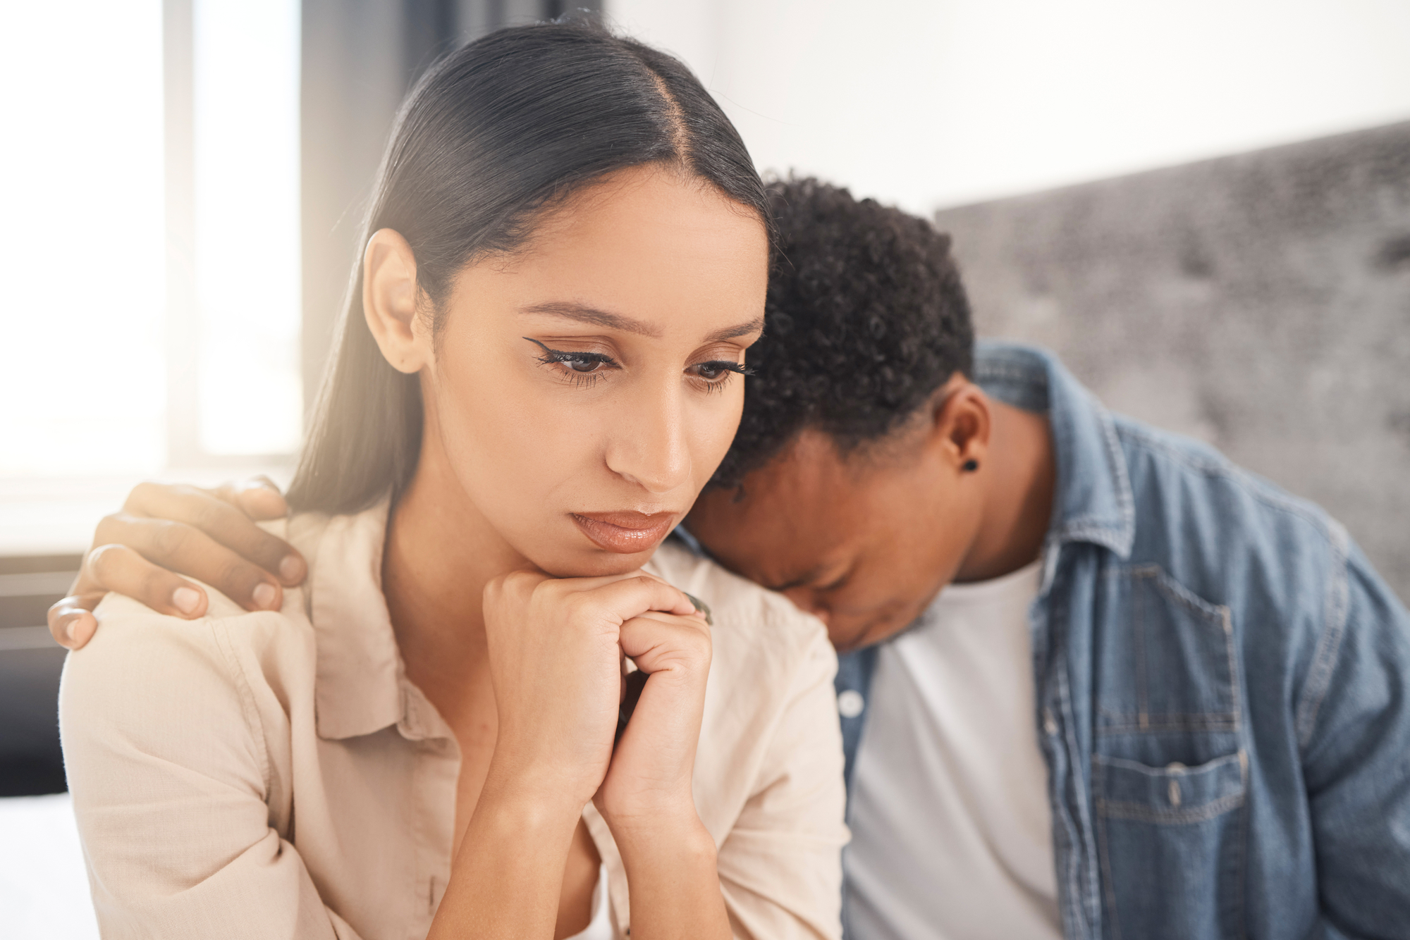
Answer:
POLYGON ((110 559, 107 558, 110 545, 94 550, 87 561, 92 576, 103 588, 135 596, 154 610, 159 607, 149 603, 145 595, 133 592, 131 579, 134 576, 151 575, 155 578, 154 572, 161 572, 164 583, 171 585, 172 589, 175 589, 175 582, 182 581, 176 576, 178 574, 196 578, 212 585, 245 610, 278 610, 283 603, 283 590, 272 575, 185 523, 138 516, 109 516, 99 524, 97 541, 117 543, 127 551, 116 552, 110 559), (135 564, 128 554, 135 555, 142 564, 135 564))

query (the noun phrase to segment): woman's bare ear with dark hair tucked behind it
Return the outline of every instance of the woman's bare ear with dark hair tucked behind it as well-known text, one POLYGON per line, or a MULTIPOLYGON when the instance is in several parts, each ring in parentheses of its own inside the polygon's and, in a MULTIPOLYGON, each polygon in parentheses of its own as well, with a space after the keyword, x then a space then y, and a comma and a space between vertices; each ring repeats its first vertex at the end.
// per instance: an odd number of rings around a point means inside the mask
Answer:
POLYGON ((379 228, 362 252, 362 314, 382 355, 407 375, 430 361, 416 302, 416 255, 399 233, 379 228))

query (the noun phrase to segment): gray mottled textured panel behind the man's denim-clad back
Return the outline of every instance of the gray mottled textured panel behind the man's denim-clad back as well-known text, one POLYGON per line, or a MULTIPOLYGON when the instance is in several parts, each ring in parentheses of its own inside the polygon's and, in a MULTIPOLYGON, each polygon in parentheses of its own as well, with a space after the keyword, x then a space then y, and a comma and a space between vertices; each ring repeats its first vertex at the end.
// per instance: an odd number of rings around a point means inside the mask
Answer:
POLYGON ((1410 600, 1410 123, 936 220, 981 335, 1321 503, 1410 600))

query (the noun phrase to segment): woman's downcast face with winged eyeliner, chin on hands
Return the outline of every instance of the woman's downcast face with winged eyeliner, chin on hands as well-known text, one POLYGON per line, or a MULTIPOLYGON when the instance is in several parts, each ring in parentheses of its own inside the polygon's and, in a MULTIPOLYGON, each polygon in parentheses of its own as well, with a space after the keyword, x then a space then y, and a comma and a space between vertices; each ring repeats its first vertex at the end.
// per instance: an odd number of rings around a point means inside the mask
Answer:
POLYGON ((393 365, 422 373, 417 475, 441 464, 550 574, 640 567, 735 435, 767 264, 759 217, 699 180, 634 168, 577 194, 461 272, 439 337, 412 317, 393 365))

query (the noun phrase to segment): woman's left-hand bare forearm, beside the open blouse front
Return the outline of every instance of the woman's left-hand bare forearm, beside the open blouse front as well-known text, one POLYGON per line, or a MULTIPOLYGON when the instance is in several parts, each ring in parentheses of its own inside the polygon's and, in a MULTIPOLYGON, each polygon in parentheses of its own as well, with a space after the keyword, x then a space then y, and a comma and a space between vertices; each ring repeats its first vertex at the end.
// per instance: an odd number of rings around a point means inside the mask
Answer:
POLYGON ((581 813, 486 781, 427 940, 553 937, 581 813))

